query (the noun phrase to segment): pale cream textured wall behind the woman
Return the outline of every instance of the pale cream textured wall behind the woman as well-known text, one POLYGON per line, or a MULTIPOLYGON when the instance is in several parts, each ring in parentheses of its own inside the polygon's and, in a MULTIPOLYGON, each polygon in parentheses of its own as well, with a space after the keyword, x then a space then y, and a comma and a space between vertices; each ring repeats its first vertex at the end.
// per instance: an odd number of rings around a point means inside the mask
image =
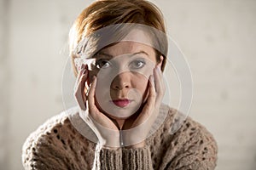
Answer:
MULTIPOLYGON (((63 110, 67 34, 92 1, 0 0, 0 167, 22 169, 21 146, 63 110)), ((194 79, 190 116, 218 141, 218 167, 256 168, 256 1, 154 1, 194 79)))

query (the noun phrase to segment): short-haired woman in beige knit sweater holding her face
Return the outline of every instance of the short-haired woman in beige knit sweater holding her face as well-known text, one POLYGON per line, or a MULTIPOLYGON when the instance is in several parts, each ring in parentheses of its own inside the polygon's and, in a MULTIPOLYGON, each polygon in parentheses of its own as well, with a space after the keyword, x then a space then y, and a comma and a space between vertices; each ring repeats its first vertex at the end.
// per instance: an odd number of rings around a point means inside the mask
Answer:
POLYGON ((165 94, 166 28, 144 0, 100 0, 70 31, 78 107, 49 119, 23 146, 26 169, 214 169, 212 134, 165 94))

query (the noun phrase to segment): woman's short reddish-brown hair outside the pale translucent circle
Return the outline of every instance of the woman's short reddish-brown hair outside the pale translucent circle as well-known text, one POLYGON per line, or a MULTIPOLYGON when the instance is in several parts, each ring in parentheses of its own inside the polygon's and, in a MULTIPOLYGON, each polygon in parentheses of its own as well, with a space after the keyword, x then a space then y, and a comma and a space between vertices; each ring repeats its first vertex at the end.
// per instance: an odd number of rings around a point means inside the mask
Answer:
MULTIPOLYGON (((72 57, 72 65, 75 76, 78 71, 74 64, 74 59, 79 57, 74 53, 78 48, 79 42, 84 38, 90 37, 95 31, 106 26, 118 24, 140 24, 153 27, 166 35, 166 26, 163 14, 153 3, 146 0, 98 0, 84 8, 81 14, 74 21, 69 32, 69 51, 72 57)), ((167 54, 167 37, 154 37, 160 44, 161 50, 155 49, 157 61, 160 55, 164 57, 161 70, 164 71, 167 54), (161 51, 161 52, 160 52, 161 51)), ((95 40, 95 38, 94 38, 95 40)))

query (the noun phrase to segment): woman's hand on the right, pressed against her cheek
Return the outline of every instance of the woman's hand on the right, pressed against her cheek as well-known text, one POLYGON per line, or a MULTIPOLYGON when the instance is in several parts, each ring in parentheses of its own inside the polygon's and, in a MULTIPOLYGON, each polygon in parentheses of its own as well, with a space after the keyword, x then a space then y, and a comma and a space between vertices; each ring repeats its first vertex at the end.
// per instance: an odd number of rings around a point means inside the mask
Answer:
POLYGON ((125 129, 130 129, 122 132, 122 139, 125 145, 130 145, 130 147, 134 148, 143 147, 144 139, 147 138, 150 128, 159 115, 165 90, 163 74, 160 71, 160 65, 157 65, 154 68, 154 74, 149 77, 148 100, 143 106, 143 111, 134 122, 127 120, 127 122, 132 122, 130 125, 125 123, 125 129))

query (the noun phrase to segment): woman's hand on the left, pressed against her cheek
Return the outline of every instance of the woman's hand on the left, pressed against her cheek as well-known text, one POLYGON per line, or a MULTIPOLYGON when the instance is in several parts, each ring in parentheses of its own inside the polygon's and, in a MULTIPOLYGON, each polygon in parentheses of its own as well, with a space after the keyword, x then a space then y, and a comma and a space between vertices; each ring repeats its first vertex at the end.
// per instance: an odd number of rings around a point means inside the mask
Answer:
POLYGON ((89 71, 88 66, 83 64, 79 68, 74 88, 74 97, 79 105, 79 116, 96 133, 99 144, 117 148, 120 144, 118 127, 96 107, 96 77, 93 77, 89 89, 85 86, 86 82, 89 82, 89 71))

